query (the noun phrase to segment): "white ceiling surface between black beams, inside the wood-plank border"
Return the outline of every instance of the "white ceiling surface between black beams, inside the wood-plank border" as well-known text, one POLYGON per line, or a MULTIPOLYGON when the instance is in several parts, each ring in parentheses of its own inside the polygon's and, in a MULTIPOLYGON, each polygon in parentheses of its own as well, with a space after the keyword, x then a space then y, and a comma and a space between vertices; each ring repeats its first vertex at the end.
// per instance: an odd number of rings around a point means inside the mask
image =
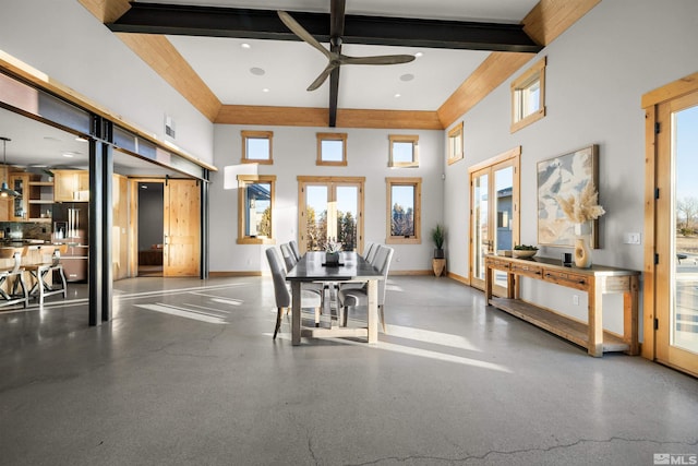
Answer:
MULTIPOLYGON (((330 12, 330 0, 155 0, 135 3, 284 9, 292 15, 330 12)), ((346 14, 510 25, 519 24, 537 3, 537 0, 348 0, 346 14)), ((448 27, 444 26, 444 29, 448 27)), ((447 36, 448 31, 445 34, 447 36)), ((222 105, 328 107, 329 81, 316 91, 305 91, 327 63, 327 59, 308 44, 186 35, 167 35, 167 38, 222 105)), ((328 43, 324 45, 329 48, 328 43)), ((420 53, 420 57, 405 64, 341 67, 339 108, 430 111, 438 109, 490 55, 489 50, 362 45, 347 40, 341 52, 351 56, 420 53)))

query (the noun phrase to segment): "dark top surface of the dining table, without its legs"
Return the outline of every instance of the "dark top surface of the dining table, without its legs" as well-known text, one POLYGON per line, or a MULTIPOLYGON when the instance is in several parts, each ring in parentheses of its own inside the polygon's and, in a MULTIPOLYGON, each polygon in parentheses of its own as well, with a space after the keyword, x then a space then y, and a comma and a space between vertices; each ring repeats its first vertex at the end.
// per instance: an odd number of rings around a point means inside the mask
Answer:
POLYGON ((339 266, 323 265, 325 252, 309 251, 286 275, 288 282, 348 282, 383 279, 383 274, 357 252, 339 253, 339 266))

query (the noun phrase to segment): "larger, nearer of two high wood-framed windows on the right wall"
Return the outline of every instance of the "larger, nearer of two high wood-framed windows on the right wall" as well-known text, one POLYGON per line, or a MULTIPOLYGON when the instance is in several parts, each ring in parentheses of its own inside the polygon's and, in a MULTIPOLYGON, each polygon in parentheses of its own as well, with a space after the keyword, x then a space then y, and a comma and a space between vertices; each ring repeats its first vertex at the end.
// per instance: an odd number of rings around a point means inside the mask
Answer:
POLYGON ((512 82, 512 132, 545 116, 545 58, 512 82))

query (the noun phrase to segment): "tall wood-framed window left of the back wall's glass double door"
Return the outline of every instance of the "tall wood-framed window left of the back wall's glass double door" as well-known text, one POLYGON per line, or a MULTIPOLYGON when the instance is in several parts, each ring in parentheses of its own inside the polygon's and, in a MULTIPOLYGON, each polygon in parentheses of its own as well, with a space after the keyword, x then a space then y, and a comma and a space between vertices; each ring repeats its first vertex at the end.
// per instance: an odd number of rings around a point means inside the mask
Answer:
POLYGON ((276 177, 238 175, 238 244, 274 243, 276 177))

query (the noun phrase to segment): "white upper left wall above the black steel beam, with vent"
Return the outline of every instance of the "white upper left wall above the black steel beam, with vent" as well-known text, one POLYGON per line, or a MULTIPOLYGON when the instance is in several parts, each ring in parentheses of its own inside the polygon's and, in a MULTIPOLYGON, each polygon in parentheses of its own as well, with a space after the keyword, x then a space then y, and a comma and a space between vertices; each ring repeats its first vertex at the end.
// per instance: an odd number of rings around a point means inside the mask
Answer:
POLYGON ((169 115, 177 123, 172 142, 213 163, 213 123, 77 0, 2 3, 0 49, 161 141, 169 115))

